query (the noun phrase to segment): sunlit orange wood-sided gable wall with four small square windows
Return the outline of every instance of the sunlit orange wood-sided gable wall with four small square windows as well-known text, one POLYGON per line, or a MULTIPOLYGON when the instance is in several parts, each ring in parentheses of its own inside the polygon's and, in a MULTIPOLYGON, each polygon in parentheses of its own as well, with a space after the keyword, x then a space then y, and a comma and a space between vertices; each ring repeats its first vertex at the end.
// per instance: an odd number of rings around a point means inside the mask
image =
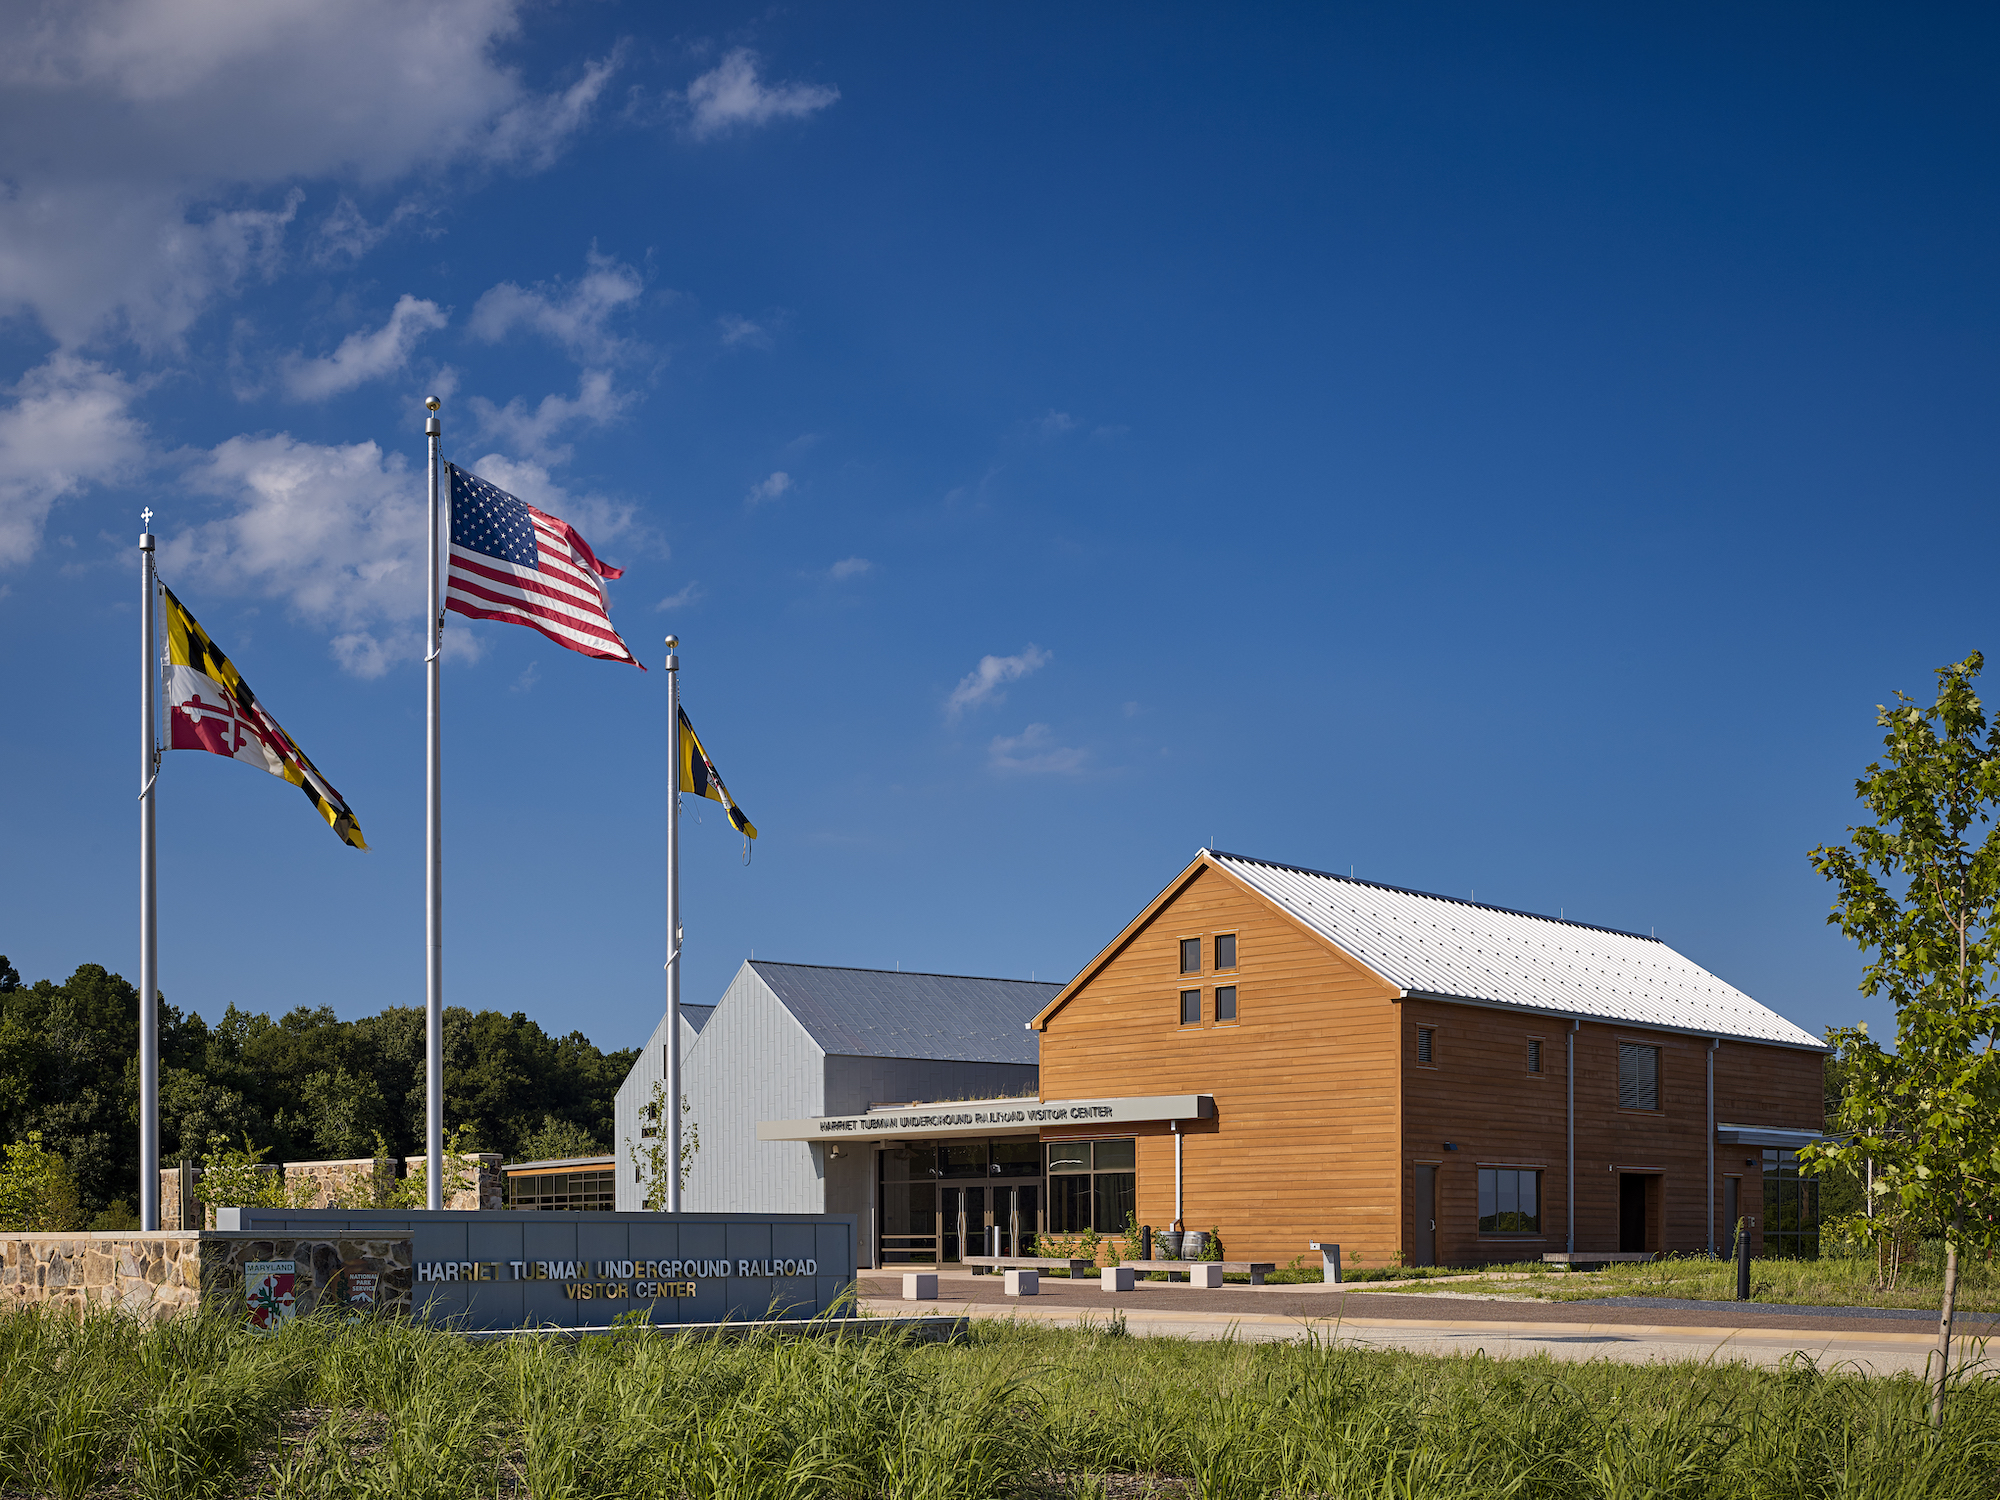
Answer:
MULTIPOLYGON (((1214 1094, 1182 1122, 1186 1228, 1216 1228, 1230 1260, 1306 1256, 1336 1238, 1370 1266, 1398 1246, 1394 990, 1236 878, 1204 864, 1170 888, 1044 1020, 1042 1098, 1214 1094), (1238 1022, 1214 1022, 1214 934, 1236 934, 1238 1022), (1180 940, 1202 938, 1202 974, 1180 940), (1180 1026, 1180 990, 1202 1024, 1180 1026)), ((1174 1220, 1166 1124, 1042 1136, 1138 1136, 1138 1220, 1174 1220)))

